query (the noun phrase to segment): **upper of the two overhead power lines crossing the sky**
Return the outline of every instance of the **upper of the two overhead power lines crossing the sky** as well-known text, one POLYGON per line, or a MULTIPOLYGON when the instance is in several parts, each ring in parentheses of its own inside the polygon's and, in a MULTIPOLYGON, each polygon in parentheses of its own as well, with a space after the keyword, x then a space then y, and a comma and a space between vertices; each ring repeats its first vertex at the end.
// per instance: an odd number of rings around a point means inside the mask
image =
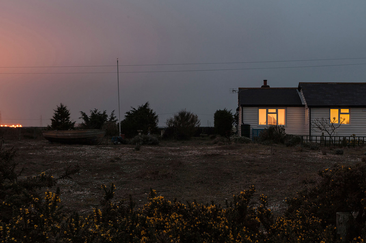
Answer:
MULTIPOLYGON (((161 64, 130 64, 119 65, 124 67, 132 66, 173 66, 173 65, 210 65, 210 64, 240 64, 240 63, 270 63, 270 62, 306 62, 306 61, 335 61, 335 60, 356 60, 366 59, 366 57, 356 58, 331 58, 331 59, 305 59, 305 60, 280 60, 280 61, 251 61, 251 62, 203 62, 203 63, 161 63, 161 64)), ((77 65, 77 66, 10 66, 0 68, 46 68, 46 67, 116 67, 117 65, 77 65)))

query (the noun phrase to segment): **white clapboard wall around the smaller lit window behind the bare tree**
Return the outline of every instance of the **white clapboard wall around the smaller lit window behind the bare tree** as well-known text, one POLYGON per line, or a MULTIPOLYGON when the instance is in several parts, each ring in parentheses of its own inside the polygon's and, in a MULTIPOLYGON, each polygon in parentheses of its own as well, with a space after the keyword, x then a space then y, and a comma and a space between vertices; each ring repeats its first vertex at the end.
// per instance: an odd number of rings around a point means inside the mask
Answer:
MULTIPOLYGON (((346 107, 344 107, 346 108, 346 107)), ((329 119, 330 108, 311 108, 311 121, 316 118, 324 117, 329 119)), ((341 124, 335 130, 334 136, 366 136, 366 107, 364 108, 349 108, 350 109, 350 124, 341 124), (365 110, 365 111, 363 111, 365 110)), ((321 135, 322 132, 311 131, 311 135, 321 135)), ((328 135, 324 132, 324 135, 328 135)))

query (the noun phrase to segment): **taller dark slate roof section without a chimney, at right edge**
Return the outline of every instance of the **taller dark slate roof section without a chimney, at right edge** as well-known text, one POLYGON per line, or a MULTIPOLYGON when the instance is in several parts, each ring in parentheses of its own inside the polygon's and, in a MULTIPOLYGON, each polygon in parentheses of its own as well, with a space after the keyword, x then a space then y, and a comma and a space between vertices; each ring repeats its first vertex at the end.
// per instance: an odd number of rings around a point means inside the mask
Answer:
POLYGON ((366 107, 366 83, 299 83, 309 107, 366 107))

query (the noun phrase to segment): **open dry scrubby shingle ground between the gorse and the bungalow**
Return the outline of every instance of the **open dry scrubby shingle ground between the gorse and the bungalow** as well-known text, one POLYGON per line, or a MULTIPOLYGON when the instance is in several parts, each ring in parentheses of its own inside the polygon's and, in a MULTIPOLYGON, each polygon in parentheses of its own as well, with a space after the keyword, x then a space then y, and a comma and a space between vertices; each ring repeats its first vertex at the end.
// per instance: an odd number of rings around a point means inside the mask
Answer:
MULTIPOLYGON (((66 207, 89 211, 100 203, 101 184, 116 185, 116 201, 132 199, 137 206, 147 203, 150 188, 168 200, 224 204, 233 194, 254 185, 256 196, 268 196, 272 212, 281 213, 285 197, 318 180, 320 170, 334 163, 361 162, 365 149, 297 149, 283 145, 213 144, 208 138, 190 141, 162 141, 157 146, 99 146, 51 144, 46 140, 5 141, 18 149, 16 161, 22 176, 45 171, 61 175, 70 165, 79 165, 78 174, 59 181, 61 202, 66 207)), ((56 189, 51 189, 55 191, 56 189)))

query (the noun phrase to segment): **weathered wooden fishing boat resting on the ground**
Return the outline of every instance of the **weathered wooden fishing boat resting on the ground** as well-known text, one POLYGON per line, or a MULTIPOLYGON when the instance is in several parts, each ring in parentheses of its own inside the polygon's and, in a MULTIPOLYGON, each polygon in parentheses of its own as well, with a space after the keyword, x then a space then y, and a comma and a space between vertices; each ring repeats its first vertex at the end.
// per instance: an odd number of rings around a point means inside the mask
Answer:
POLYGON ((43 136, 52 143, 98 145, 102 142, 105 132, 97 129, 43 131, 43 136))

